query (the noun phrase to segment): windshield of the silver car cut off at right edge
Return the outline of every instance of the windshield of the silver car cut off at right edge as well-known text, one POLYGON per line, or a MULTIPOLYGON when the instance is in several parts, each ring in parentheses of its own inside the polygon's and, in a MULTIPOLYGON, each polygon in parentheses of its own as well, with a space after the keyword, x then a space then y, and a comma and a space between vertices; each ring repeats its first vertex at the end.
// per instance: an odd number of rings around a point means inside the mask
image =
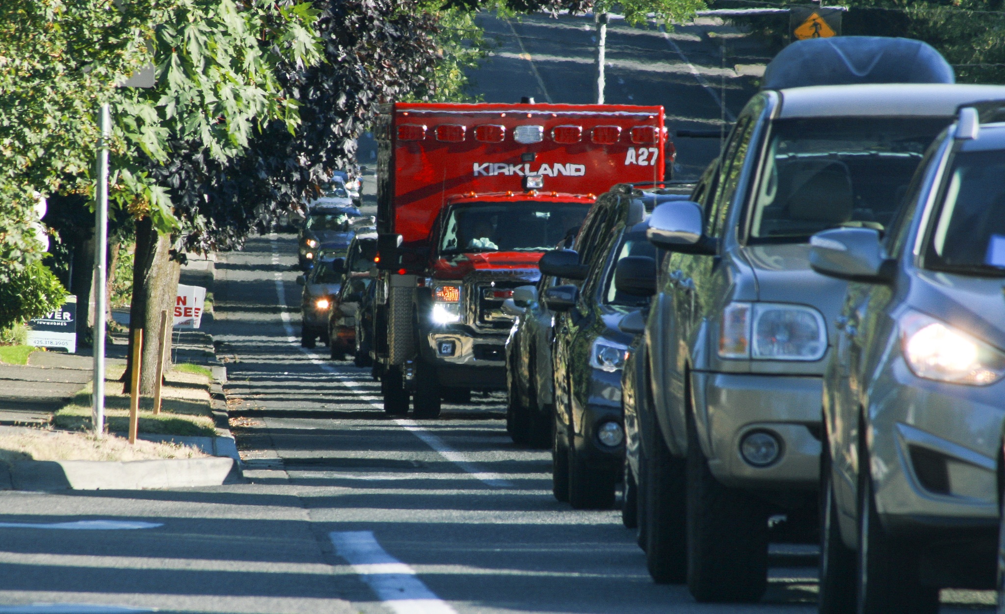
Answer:
POLYGON ((1005 152, 958 154, 947 177, 925 266, 1005 275, 1005 152))

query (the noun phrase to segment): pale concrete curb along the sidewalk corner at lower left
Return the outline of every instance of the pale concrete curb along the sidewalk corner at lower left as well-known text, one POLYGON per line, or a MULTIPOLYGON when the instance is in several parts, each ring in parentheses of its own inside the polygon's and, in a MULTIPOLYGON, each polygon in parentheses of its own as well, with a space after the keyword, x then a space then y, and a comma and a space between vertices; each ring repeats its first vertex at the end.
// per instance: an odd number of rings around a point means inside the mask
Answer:
POLYGON ((0 490, 143 490, 219 486, 241 480, 233 458, 21 460, 0 467, 0 490))

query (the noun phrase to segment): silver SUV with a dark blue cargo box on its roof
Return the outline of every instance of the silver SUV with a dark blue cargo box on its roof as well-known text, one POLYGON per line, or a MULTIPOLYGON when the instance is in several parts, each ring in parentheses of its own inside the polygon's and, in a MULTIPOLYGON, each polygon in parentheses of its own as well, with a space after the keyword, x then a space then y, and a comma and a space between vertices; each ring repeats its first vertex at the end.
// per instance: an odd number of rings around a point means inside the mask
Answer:
POLYGON ((793 43, 693 202, 653 212, 649 238, 671 253, 646 324, 646 394, 634 401, 640 522, 657 582, 686 580, 701 602, 756 601, 768 519, 815 525, 821 380, 845 282, 810 269, 809 237, 890 225, 956 108, 1001 95, 952 80, 919 41, 793 43), (807 58, 828 70, 796 69, 807 58), (842 84, 804 86, 825 76, 842 84))

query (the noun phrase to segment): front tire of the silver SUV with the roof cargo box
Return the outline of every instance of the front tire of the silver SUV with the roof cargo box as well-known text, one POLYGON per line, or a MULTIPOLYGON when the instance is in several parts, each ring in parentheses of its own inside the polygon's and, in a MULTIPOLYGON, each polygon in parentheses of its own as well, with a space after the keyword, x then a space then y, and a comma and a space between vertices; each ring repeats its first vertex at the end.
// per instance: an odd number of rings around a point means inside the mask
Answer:
POLYGON ((755 602, 768 588, 768 508, 709 469, 687 425, 687 588, 698 602, 755 602))

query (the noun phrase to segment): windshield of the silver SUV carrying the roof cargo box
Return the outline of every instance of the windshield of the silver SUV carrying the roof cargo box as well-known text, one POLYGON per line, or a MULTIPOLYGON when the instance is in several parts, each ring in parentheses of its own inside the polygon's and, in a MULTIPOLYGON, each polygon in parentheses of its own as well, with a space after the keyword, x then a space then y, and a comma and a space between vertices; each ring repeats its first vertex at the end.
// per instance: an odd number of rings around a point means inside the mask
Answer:
POLYGON ((834 226, 883 230, 943 118, 779 120, 753 196, 749 241, 806 242, 834 226))

